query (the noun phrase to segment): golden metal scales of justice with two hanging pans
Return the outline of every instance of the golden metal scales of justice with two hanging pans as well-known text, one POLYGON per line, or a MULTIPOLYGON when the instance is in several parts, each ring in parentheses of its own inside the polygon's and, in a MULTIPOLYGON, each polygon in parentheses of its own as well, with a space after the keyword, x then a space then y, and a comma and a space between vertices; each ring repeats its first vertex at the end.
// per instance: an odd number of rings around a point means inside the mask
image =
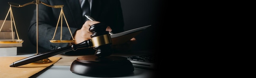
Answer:
MULTIPOLYGON (((36 32, 36 34, 37 34, 37 36, 36 36, 36 37, 37 37, 37 38, 36 38, 36 39, 37 39, 37 41, 36 41, 36 55, 38 54, 38 4, 40 4, 40 3, 42 3, 42 4, 44 4, 44 5, 48 6, 48 7, 52 7, 52 8, 61 8, 60 16, 59 16, 59 18, 58 18, 58 23, 59 23, 60 18, 61 18, 61 32, 62 32, 63 16, 64 16, 64 18, 65 18, 65 15, 64 15, 64 13, 63 13, 63 5, 54 5, 54 6, 51 6, 51 5, 49 5, 49 4, 45 4, 45 3, 41 2, 40 0, 35 0, 35 1, 33 1, 33 2, 29 2, 29 3, 23 4, 23 5, 16 4, 16 3, 12 3, 12 2, 8 2, 8 4, 10 5, 10 8, 9 8, 9 11, 7 12, 6 17, 4 18, 4 22, 6 21, 8 15, 10 14, 10 19, 11 19, 11 31, 12 31, 12 40, 11 40, 11 41, 0 41, 0 44, 16 44, 16 43, 22 43, 22 42, 24 42, 23 40, 20 40, 20 38, 19 38, 19 36, 18 36, 18 31, 17 31, 17 29, 16 29, 16 24, 15 24, 15 20, 14 20, 14 17, 13 17, 13 12, 12 12, 11 7, 24 7, 24 6, 29 5, 29 4, 36 4, 36 19, 37 19, 37 20, 36 20, 36 22, 37 22, 37 23, 36 23, 36 30, 37 30, 37 32, 36 32), (13 36, 13 25, 14 25, 14 28, 15 28, 15 31, 16 31, 16 34, 17 34, 17 38, 18 38, 17 40, 14 39, 15 37, 13 36)), ((2 27, 4 26, 4 22, 3 22, 3 24, 2 24, 2 27)), ((67 23, 66 18, 65 18, 65 22, 67 23)), ((57 30, 57 28, 58 28, 58 23, 57 23, 57 26, 56 26, 56 30, 57 30)), ((2 27, 1 27, 1 29, 2 29, 2 27)), ((67 24, 67 27, 69 28, 68 24, 67 24)), ((1 29, 0 29, 0 31, 1 31, 1 29)), ((56 30, 55 30, 55 32, 54 32, 54 36, 55 36, 56 30)), ((70 29, 69 29, 69 31, 70 31, 70 29)), ((71 36, 72 36, 71 31, 70 31, 70 34, 71 34, 71 36)), ((62 33, 61 33, 61 39, 60 39, 60 40, 54 40, 54 36, 53 36, 52 40, 50 40, 50 42, 52 42, 52 43, 63 43, 63 42, 74 42, 74 41, 75 41, 74 38, 73 38, 73 36, 72 36, 72 39, 73 39, 73 40, 62 40, 62 33)), ((45 58, 45 59, 43 59, 43 60, 39 60, 39 61, 33 62, 33 64, 45 64, 45 63, 50 63, 50 62, 52 62, 52 61, 49 60, 48 58, 45 58)))

